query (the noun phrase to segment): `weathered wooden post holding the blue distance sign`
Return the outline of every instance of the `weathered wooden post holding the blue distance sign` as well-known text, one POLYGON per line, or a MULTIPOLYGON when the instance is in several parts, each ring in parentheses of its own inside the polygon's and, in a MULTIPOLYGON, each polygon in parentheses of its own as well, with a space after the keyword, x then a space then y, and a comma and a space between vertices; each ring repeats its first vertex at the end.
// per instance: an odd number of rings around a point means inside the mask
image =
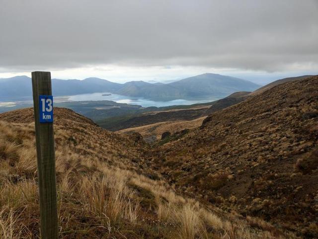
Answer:
POLYGON ((52 95, 51 73, 32 72, 32 90, 40 194, 41 238, 58 239, 53 123, 40 123, 39 116, 39 95, 52 95))

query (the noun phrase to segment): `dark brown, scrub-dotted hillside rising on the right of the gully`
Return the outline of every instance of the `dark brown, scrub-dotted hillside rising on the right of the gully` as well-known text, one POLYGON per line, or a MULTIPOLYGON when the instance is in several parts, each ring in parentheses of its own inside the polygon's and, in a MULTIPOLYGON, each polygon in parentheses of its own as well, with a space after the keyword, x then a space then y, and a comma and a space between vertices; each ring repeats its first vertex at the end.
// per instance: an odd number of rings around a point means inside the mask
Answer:
POLYGON ((318 237, 318 76, 217 111, 153 154, 180 192, 318 237))

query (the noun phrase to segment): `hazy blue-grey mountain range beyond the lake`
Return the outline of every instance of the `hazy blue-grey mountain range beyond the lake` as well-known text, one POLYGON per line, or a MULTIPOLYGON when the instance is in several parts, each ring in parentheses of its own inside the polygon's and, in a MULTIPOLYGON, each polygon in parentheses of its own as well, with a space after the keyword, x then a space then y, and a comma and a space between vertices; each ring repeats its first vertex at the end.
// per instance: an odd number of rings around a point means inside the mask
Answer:
MULTIPOLYGON (((124 84, 99 78, 85 80, 52 79, 55 96, 94 92, 144 97, 153 100, 187 99, 202 96, 226 96, 236 91, 253 91, 260 85, 239 78, 206 73, 171 83, 130 81, 124 84)), ((31 79, 26 76, 0 79, 0 101, 23 100, 31 97, 31 79)))

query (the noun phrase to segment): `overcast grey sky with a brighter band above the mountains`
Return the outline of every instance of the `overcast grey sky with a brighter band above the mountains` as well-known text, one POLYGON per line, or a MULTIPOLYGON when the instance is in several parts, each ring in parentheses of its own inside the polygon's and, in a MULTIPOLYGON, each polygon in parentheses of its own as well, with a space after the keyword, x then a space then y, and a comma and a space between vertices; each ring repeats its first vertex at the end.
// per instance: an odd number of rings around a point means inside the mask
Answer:
POLYGON ((318 74, 318 0, 0 0, 0 78, 318 74))

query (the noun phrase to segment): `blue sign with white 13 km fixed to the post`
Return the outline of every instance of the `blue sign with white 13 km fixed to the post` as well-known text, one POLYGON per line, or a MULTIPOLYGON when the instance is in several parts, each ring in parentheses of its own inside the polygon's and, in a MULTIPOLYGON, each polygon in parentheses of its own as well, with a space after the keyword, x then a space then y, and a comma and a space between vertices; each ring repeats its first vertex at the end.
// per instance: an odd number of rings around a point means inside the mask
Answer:
POLYGON ((39 95, 40 123, 53 123, 53 96, 39 95))

